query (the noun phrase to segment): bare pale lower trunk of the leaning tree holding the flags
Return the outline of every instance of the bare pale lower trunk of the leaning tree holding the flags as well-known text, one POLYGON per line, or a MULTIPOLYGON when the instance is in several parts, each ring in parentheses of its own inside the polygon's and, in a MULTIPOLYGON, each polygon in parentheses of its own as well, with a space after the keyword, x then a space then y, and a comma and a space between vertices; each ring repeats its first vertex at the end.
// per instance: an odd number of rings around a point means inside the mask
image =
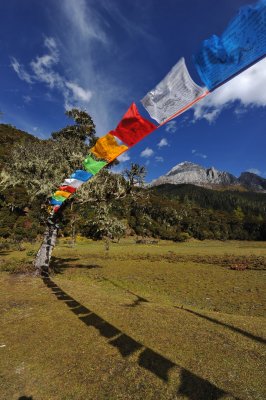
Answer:
POLYGON ((49 264, 56 243, 57 234, 58 226, 56 224, 47 225, 42 245, 34 260, 36 275, 49 276, 49 264))

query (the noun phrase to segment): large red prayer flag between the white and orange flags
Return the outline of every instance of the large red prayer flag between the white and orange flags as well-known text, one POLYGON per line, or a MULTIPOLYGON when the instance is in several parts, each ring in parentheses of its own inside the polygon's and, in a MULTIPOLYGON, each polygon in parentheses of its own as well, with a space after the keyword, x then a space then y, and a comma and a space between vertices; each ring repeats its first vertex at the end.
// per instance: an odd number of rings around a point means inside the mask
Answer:
POLYGON ((156 125, 140 115, 136 104, 132 103, 116 129, 109 133, 127 146, 133 146, 156 128, 156 125))

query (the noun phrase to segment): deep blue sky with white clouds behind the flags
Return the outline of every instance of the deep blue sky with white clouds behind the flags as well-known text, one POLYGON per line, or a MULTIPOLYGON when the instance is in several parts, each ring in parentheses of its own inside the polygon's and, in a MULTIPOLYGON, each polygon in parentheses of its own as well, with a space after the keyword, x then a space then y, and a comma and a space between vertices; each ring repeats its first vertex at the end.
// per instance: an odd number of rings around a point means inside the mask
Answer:
MULTIPOLYGON (((221 34, 244 0, 9 0, 0 25, 2 122, 41 138, 86 109, 102 136, 180 59, 221 34)), ((147 180, 182 161, 266 177, 266 62, 230 81, 122 156, 147 180)))

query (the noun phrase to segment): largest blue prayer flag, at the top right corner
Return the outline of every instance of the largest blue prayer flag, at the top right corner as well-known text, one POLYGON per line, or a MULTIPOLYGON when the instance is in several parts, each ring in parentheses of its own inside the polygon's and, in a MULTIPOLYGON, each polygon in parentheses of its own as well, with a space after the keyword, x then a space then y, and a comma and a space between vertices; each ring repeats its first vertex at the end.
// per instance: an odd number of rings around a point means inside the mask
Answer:
POLYGON ((204 40, 194 57, 205 85, 213 90, 266 55, 266 0, 242 7, 221 37, 204 40))

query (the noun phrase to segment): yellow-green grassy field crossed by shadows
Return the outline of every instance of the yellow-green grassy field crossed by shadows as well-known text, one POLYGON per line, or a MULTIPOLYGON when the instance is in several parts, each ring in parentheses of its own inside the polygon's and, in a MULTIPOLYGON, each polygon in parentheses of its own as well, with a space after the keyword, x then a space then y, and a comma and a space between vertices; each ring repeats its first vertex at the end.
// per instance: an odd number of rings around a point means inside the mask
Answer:
POLYGON ((1 400, 266 398, 265 242, 36 248, 1 252, 1 400))

